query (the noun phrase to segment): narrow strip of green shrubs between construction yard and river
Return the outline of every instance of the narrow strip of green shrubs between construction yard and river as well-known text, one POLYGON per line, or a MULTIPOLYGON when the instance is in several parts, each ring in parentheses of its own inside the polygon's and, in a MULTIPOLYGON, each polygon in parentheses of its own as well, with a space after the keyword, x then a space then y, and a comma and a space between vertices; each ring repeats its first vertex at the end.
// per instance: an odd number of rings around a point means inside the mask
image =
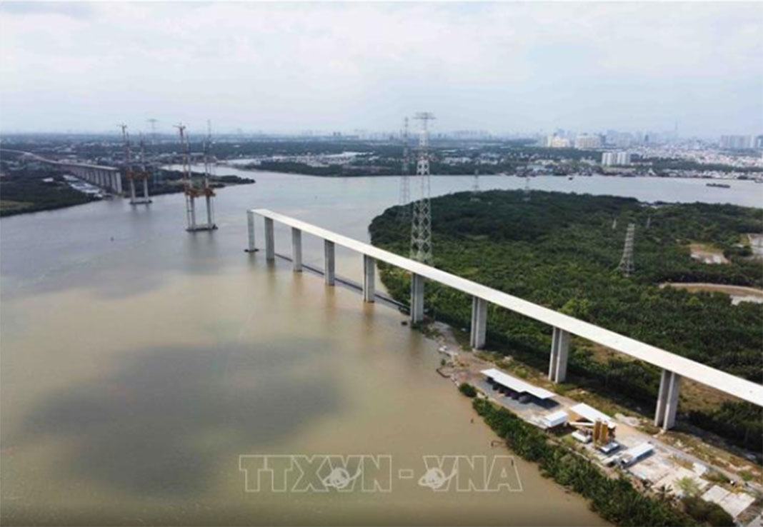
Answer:
POLYGON ((640 493, 625 477, 608 477, 570 448, 549 442, 546 433, 505 408, 485 399, 475 399, 473 406, 512 451, 537 463, 546 477, 591 500, 591 509, 615 525, 696 525, 669 503, 640 493))

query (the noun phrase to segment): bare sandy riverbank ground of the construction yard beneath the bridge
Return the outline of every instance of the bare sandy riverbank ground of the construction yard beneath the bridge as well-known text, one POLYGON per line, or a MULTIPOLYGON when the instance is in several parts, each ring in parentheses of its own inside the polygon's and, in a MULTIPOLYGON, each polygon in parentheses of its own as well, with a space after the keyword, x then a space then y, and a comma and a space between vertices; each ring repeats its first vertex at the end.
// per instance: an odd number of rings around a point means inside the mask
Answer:
MULTIPOLYGON (((625 415, 623 413, 616 413, 614 420, 617 423, 617 442, 622 445, 622 449, 630 448, 636 445, 648 442, 653 445, 655 449, 654 453, 647 459, 640 461, 638 464, 633 465, 632 468, 626 471, 620 471, 619 469, 609 468, 604 464, 606 455, 601 455, 595 448, 591 448, 590 445, 577 445, 574 441, 571 441, 568 435, 555 432, 551 435, 546 435, 540 432, 539 423, 543 415, 556 412, 558 410, 565 410, 569 412, 571 406, 575 406, 580 403, 581 400, 574 400, 571 397, 566 397, 563 394, 559 394, 559 385, 552 384, 548 381, 543 382, 538 378, 528 378, 528 375, 523 370, 517 370, 512 368, 510 358, 501 357, 500 355, 491 355, 488 352, 474 353, 468 350, 465 345, 465 334, 454 331, 450 326, 441 322, 430 323, 428 326, 422 327, 423 332, 436 339, 438 350, 443 354, 444 358, 439 368, 438 373, 444 378, 448 378, 456 387, 460 387, 462 384, 470 384, 474 386, 479 397, 486 401, 489 401, 493 408, 500 407, 501 412, 510 413, 513 416, 511 419, 517 419, 521 421, 522 425, 517 424, 520 427, 522 435, 527 437, 528 435, 534 436, 535 442, 544 444, 550 439, 551 443, 555 445, 555 448, 559 449, 563 453, 568 451, 577 456, 582 456, 589 462, 594 463, 602 477, 612 478, 627 478, 633 490, 638 490, 642 496, 646 496, 651 500, 652 504, 645 506, 640 514, 645 514, 646 510, 655 508, 659 511, 661 518, 670 518, 664 525, 678 525, 676 523, 683 516, 679 509, 675 509, 675 514, 678 516, 671 516, 666 514, 665 509, 662 506, 665 504, 675 505, 675 500, 665 500, 665 495, 668 493, 674 498, 683 498, 684 507, 686 507, 687 500, 703 500, 704 502, 712 501, 713 496, 723 495, 725 501, 721 501, 720 505, 716 505, 726 510, 729 519, 736 518, 737 521, 748 522, 750 519, 760 514, 761 504, 755 504, 754 495, 758 495, 763 491, 761 486, 757 483, 761 478, 760 467, 752 465, 749 461, 743 458, 737 458, 736 461, 739 466, 736 467, 736 471, 729 471, 729 465, 725 464, 720 466, 717 464, 708 463, 707 456, 698 458, 696 455, 692 455, 687 452, 685 448, 676 448, 673 442, 665 441, 671 435, 671 432, 655 432, 655 427, 650 423, 646 423, 645 419, 641 416, 625 415), (493 360, 491 360, 493 359, 493 360), (557 392, 554 400, 558 403, 553 409, 548 409, 542 406, 536 406, 533 403, 517 403, 516 400, 512 400, 509 397, 503 397, 498 394, 492 387, 485 381, 485 376, 481 374, 482 370, 488 368, 502 368, 506 371, 510 371, 517 377, 523 378, 525 381, 530 381, 537 386, 541 386, 546 390, 552 390, 557 392), (649 432, 651 430, 651 433, 649 432), (546 438, 545 440, 539 439, 540 437, 546 438), (742 473, 740 475, 739 473, 742 473), (686 484, 687 480, 691 480, 691 484, 686 484), (748 482, 748 480, 750 482, 748 482), (687 492, 684 489, 689 485, 691 488, 696 488, 694 495, 687 492), (740 489, 742 490, 740 492, 740 489)), ((586 402, 592 402, 590 400, 586 402)), ((495 410, 490 410, 488 406, 479 406, 475 403, 475 410, 478 413, 485 416, 485 412, 494 414, 495 410), (480 411, 479 409, 482 409, 480 411)), ((488 420, 488 418, 486 418, 488 420)), ((488 422, 488 424, 491 424, 488 422)), ((491 425, 492 426, 492 425, 491 425)), ((567 433, 571 430, 568 429, 567 433)), ((500 437, 507 437, 506 434, 498 431, 500 437)), ((521 448, 518 448, 517 439, 513 437, 507 437, 507 445, 513 451, 517 451, 522 455, 521 448)), ((683 446, 683 445, 681 445, 683 446)), ((713 447, 710 445, 703 445, 706 450, 705 454, 710 452, 717 456, 717 459, 726 457, 726 453, 720 451, 713 452, 713 447)), ((544 447, 545 448, 545 447, 544 447)), ((558 457, 558 455, 556 456, 558 457)), ((532 461, 539 461, 542 470, 548 472, 549 469, 544 466, 542 459, 534 457, 532 461)), ((552 477, 558 481, 558 483, 567 485, 568 480, 559 480, 552 472, 552 477)), ((590 473, 590 477, 600 477, 598 474, 590 473)), ((592 485, 591 485, 592 486, 592 485)), ((647 519, 636 519, 633 516, 633 512, 623 514, 616 510, 603 509, 596 505, 596 500, 600 499, 595 493, 592 493, 588 487, 575 487, 576 492, 581 493, 588 499, 593 500, 592 508, 601 513, 604 519, 612 522, 616 522, 618 525, 661 525, 655 519, 650 517, 647 519)), ((622 492, 628 493, 629 490, 621 489, 622 492)), ((611 498, 612 496, 610 496, 611 498)), ((691 503, 694 503, 693 501, 691 503)), ((720 517, 720 513, 716 513, 716 516, 720 517)), ((685 520, 686 518, 684 518, 685 520)), ((686 525, 691 525, 691 522, 686 522, 686 525)), ((729 523, 720 522, 718 525, 730 525, 729 523)))

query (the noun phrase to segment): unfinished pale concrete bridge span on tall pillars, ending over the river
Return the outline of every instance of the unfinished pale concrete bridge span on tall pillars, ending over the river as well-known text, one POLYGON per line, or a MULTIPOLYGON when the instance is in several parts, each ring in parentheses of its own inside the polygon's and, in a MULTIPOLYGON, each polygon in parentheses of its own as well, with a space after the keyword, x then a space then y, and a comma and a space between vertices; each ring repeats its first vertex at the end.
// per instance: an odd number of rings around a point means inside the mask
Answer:
POLYGON ((410 272, 411 322, 417 323, 423 320, 425 280, 437 281, 470 295, 472 297, 471 345, 473 349, 481 349, 485 345, 488 304, 504 307, 507 310, 520 313, 552 326, 549 379, 555 383, 565 380, 571 335, 577 335, 583 339, 596 342, 661 368, 662 378, 660 379, 660 389, 655 410, 655 426, 661 426, 662 429, 672 428, 675 424, 675 415, 678 409, 678 392, 681 388, 682 377, 713 387, 724 394, 739 397, 739 399, 763 406, 763 385, 761 384, 747 381, 725 371, 710 368, 710 366, 692 361, 681 355, 676 355, 645 342, 639 342, 619 333, 614 333, 609 329, 594 326, 594 324, 578 320, 538 304, 533 304, 503 291, 488 288, 485 285, 452 275, 430 265, 424 265, 421 262, 404 258, 384 249, 378 249, 368 243, 359 242, 330 230, 316 227, 311 223, 278 214, 272 210, 252 209, 248 210, 246 214, 249 227, 249 248, 247 250, 250 252, 256 250, 254 219, 256 215, 259 215, 265 219, 265 257, 269 261, 275 259, 273 222, 277 221, 291 227, 291 262, 295 272, 301 272, 303 268, 302 233, 312 234, 323 239, 324 280, 327 285, 333 285, 337 281, 334 271, 334 248, 337 244, 361 253, 363 255, 362 291, 363 300, 366 302, 373 302, 376 296, 375 262, 377 260, 410 272))

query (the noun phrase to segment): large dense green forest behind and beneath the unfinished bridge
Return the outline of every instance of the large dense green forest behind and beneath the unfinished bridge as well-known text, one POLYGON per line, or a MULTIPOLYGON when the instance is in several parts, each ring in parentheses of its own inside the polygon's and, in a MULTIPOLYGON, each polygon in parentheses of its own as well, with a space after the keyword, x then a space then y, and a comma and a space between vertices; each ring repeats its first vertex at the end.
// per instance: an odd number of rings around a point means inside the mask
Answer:
MULTIPOLYGON (((761 263, 739 255, 742 233, 760 233, 761 211, 732 205, 658 204, 631 198, 533 191, 488 191, 479 201, 459 193, 432 201, 435 265, 465 278, 562 310, 618 333, 761 382, 761 306, 732 306, 719 293, 659 288, 665 281, 760 287, 761 263), (645 225, 649 218, 649 228, 645 225), (617 226, 613 228, 613 222, 617 226), (635 274, 617 272, 628 223, 636 223, 635 274), (726 265, 691 259, 689 242, 722 249, 726 265)), ((398 207, 376 217, 372 242, 402 254, 407 228, 398 207)), ((381 266, 382 279, 407 300, 409 278, 381 266)), ((468 327, 470 299, 428 283, 426 305, 440 320, 468 327)), ((491 306, 488 344, 528 365, 547 368, 550 329, 491 306)), ((570 380, 625 403, 654 404, 658 371, 573 342, 570 380)), ((742 445, 761 448, 761 412, 747 403, 720 409, 683 400, 682 417, 742 445)))

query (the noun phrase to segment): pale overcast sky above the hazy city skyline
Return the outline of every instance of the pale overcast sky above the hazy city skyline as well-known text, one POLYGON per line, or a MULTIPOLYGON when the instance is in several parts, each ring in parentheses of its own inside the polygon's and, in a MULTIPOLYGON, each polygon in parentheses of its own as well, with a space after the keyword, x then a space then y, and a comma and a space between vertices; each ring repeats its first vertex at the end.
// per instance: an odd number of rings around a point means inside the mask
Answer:
POLYGON ((0 3, 0 129, 763 130, 763 8, 0 3))

